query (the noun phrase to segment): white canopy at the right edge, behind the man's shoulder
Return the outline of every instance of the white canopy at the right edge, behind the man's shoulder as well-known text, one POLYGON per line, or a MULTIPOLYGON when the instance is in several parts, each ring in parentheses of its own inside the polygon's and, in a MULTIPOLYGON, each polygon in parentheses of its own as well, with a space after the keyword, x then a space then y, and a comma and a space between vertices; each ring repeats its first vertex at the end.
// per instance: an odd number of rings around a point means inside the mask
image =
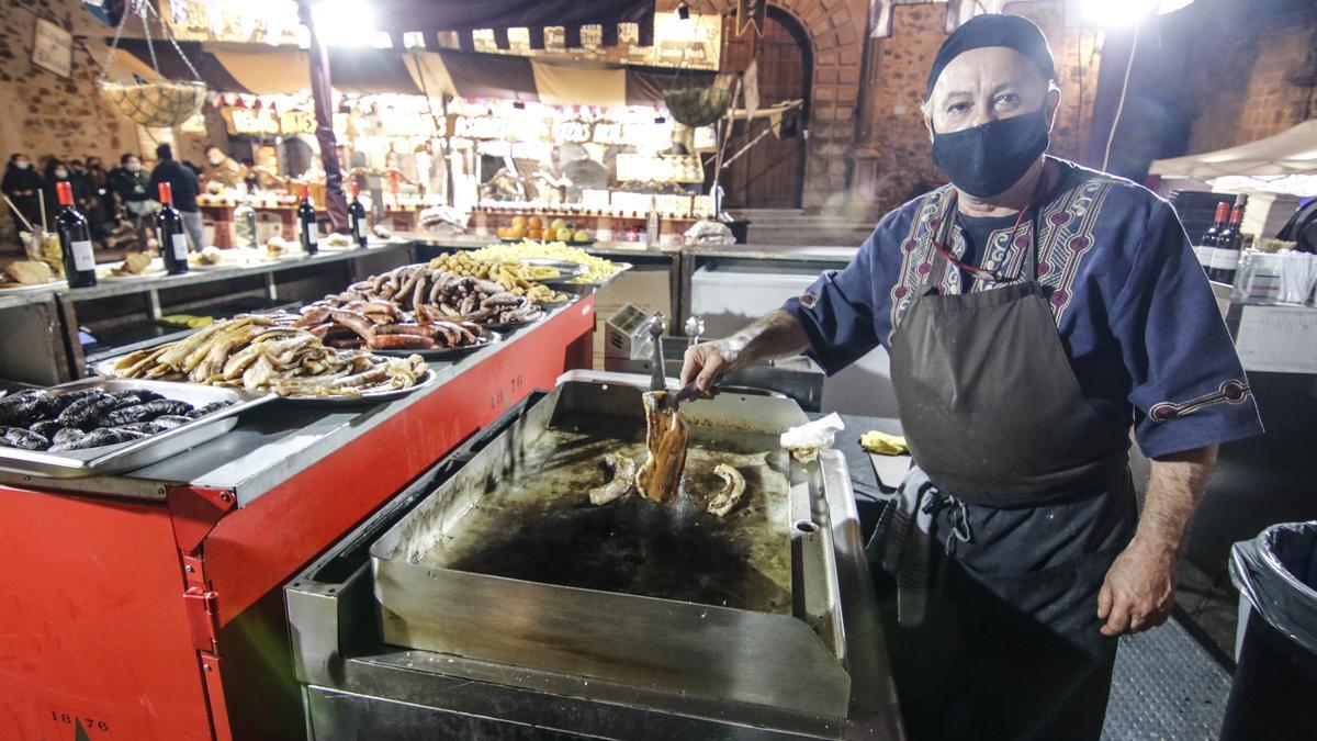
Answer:
POLYGON ((1317 175, 1317 119, 1230 149, 1156 160, 1148 174, 1200 181, 1227 175, 1317 175))

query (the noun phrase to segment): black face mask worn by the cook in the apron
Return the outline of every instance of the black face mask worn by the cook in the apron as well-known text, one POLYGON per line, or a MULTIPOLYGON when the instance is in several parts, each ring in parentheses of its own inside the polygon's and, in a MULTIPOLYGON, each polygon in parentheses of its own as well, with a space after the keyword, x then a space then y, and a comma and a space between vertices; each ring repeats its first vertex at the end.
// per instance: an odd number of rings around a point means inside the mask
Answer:
POLYGON ((1047 152, 1042 108, 952 133, 932 134, 932 161, 960 190, 977 198, 1005 193, 1047 152))

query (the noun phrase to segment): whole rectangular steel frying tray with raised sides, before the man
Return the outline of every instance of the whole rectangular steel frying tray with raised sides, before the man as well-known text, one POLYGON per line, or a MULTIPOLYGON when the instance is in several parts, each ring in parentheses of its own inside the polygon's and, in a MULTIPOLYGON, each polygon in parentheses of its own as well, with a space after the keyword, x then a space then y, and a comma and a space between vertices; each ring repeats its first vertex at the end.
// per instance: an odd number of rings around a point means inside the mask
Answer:
POLYGON ((687 493, 594 508, 582 500, 599 476, 587 472, 601 450, 633 455, 627 431, 644 429, 640 393, 561 382, 378 538, 383 639, 587 686, 847 717, 828 509, 817 468, 776 444, 803 413, 738 394, 684 405, 687 493), (711 468, 723 456, 748 488, 718 519, 693 484, 707 472, 691 461, 711 468), (652 580, 632 580, 632 570, 652 580))

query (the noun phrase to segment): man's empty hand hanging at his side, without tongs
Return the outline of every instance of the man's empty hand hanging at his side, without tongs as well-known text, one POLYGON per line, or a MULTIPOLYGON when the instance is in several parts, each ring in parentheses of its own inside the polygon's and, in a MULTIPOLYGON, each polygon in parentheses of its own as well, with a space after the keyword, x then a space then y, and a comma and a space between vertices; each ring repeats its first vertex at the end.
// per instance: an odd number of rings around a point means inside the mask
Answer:
POLYGON ((1104 636, 1139 633, 1171 617, 1175 607, 1175 548, 1134 538, 1115 558, 1097 593, 1104 636))

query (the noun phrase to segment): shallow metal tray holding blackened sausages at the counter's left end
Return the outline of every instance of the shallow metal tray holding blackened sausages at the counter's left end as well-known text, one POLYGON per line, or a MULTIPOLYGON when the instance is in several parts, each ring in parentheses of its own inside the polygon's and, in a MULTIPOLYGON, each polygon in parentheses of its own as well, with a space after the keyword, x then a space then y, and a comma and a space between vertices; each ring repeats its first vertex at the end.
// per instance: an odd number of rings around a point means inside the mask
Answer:
POLYGON ((149 389, 166 398, 186 401, 192 406, 204 406, 216 401, 232 401, 233 403, 213 414, 194 419, 187 425, 179 425, 173 430, 117 446, 66 452, 0 448, 0 469, 50 479, 100 476, 132 471, 165 460, 174 454, 217 438, 238 423, 238 414, 277 398, 274 396, 257 396, 236 389, 121 378, 87 378, 54 386, 50 392, 58 394, 80 389, 104 389, 107 392, 149 389))

